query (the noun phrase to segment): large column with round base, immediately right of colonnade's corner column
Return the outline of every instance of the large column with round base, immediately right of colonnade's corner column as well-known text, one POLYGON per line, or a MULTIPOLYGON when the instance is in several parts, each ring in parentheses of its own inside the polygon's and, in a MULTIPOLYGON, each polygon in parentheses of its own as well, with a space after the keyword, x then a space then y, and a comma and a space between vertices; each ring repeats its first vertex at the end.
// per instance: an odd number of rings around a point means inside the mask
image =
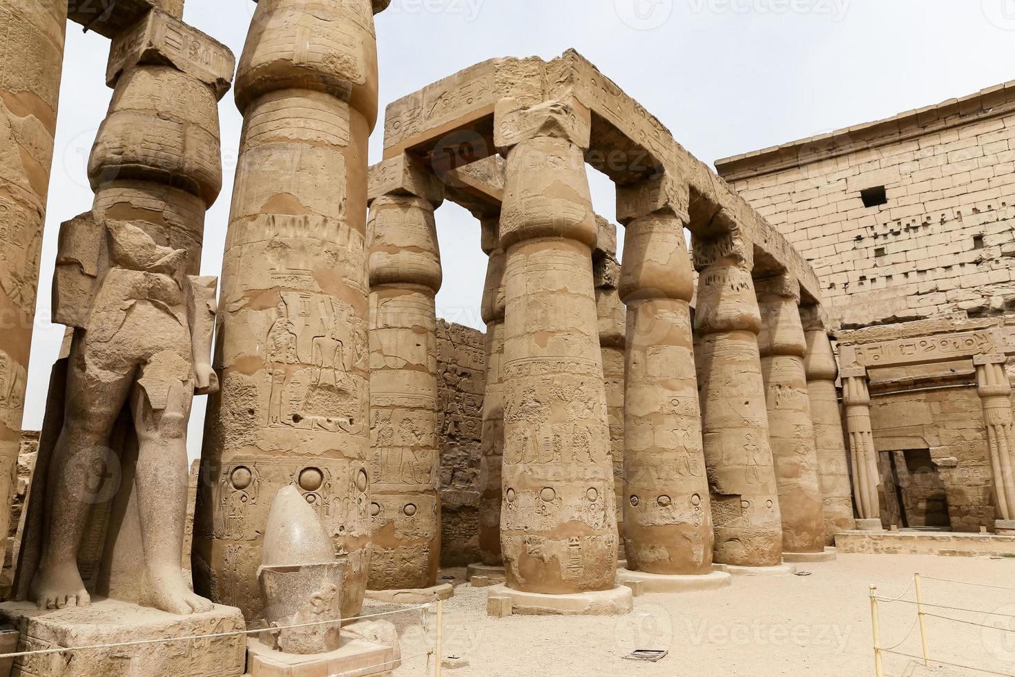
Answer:
POLYGON ((617 192, 624 224, 620 297, 624 369, 624 548, 621 581, 653 592, 729 585, 713 571, 715 534, 701 447, 691 332, 694 275, 684 226, 688 188, 660 175, 617 192))

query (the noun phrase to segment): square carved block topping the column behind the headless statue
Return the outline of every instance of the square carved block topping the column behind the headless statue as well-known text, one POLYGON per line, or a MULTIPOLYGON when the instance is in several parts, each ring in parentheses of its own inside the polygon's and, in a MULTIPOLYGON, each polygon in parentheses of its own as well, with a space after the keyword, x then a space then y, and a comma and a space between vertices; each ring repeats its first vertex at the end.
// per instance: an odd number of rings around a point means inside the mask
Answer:
POLYGON ((236 59, 225 45, 163 11, 153 9, 113 39, 106 84, 140 64, 173 66, 204 82, 221 100, 232 85, 236 59))

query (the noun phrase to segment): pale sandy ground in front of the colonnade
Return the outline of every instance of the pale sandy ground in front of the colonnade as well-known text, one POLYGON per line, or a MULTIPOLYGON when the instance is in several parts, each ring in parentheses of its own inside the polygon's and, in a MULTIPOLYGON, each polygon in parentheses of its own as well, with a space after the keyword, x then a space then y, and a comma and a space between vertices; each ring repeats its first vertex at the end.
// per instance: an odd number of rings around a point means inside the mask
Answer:
MULTIPOLYGON (((801 564, 810 576, 735 578, 730 588, 684 595, 646 594, 634 612, 619 617, 486 616, 486 591, 455 577, 455 597, 444 607, 444 675, 634 675, 644 677, 771 677, 873 675, 868 587, 882 597, 903 594, 912 573, 1011 589, 925 579, 925 602, 976 609, 928 607, 993 628, 927 618, 932 658, 1015 675, 1015 559, 922 555, 840 554, 835 561, 801 564), (1009 617, 1011 616, 1011 617, 1009 617), (658 663, 621 657, 634 649, 666 649, 658 663)), ((910 588, 903 600, 916 599, 910 588)), ((370 604, 364 613, 393 607, 370 604)), ((879 604, 882 644, 920 655, 913 604, 879 604), (901 644, 899 644, 901 642, 901 644)), ((432 675, 425 653, 433 640, 433 614, 413 610, 389 616, 402 633, 407 660, 396 677, 432 675)), ((886 657, 886 675, 975 675, 938 666, 926 670, 908 658, 886 657)))

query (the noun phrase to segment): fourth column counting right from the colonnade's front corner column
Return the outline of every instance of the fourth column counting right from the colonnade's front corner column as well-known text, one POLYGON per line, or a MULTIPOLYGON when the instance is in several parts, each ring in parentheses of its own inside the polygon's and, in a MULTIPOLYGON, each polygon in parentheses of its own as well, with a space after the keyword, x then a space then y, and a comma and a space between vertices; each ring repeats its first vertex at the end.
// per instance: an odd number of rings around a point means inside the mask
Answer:
POLYGON ((754 283, 761 311, 758 349, 783 517, 783 550, 788 560, 823 555, 824 515, 804 370, 807 341, 800 321, 800 283, 790 273, 754 283))

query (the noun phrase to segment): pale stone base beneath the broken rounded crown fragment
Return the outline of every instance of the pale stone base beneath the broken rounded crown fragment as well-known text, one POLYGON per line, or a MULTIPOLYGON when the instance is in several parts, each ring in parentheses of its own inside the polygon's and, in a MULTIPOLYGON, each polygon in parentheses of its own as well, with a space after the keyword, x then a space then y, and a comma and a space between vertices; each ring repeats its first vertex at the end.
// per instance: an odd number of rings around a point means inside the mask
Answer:
MULTIPOLYGON (((375 623, 377 621, 374 621, 375 623)), ((327 654, 284 654, 276 652, 257 637, 247 640, 247 674, 250 677, 301 677, 302 675, 356 675, 386 677, 401 665, 399 647, 369 641, 362 637, 345 637, 342 628, 341 646, 327 654)), ((397 637, 394 625, 390 634, 397 637)))

